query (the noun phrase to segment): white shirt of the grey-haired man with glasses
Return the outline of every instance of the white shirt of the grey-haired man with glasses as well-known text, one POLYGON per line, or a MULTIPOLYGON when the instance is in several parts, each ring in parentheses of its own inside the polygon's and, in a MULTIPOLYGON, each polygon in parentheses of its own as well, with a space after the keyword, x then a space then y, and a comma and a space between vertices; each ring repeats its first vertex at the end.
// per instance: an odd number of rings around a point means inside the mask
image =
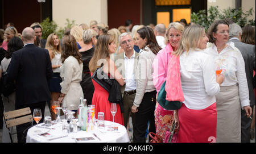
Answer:
POLYGON ((123 57, 125 61, 125 91, 135 90, 136 89, 136 82, 134 76, 134 59, 135 59, 135 51, 133 51, 133 55, 129 59, 123 52, 123 57))

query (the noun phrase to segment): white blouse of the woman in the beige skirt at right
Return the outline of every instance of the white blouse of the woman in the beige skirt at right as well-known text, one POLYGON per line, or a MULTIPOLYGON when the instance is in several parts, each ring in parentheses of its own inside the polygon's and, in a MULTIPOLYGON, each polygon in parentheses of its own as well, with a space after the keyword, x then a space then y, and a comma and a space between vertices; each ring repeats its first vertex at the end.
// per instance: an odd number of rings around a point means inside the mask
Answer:
POLYGON ((217 51, 215 44, 208 43, 206 52, 210 53, 214 58, 215 69, 222 69, 221 74, 224 75, 224 82, 221 86, 233 86, 238 84, 241 108, 250 105, 249 90, 245 74, 245 61, 238 48, 229 41, 228 46, 220 53, 217 51))

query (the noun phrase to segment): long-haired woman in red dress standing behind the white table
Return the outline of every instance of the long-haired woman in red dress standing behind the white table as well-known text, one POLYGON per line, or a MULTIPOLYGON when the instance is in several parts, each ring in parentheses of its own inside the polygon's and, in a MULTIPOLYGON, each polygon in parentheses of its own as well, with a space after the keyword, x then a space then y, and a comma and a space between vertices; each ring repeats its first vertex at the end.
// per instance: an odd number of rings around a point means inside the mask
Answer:
MULTIPOLYGON (((114 78, 119 85, 124 85, 125 81, 121 74, 115 67, 114 61, 110 59, 110 54, 115 52, 115 41, 112 35, 101 35, 97 40, 97 45, 94 51, 94 55, 89 63, 89 69, 91 75, 97 68, 100 68, 103 64, 103 70, 110 77, 114 78)), ((111 102, 108 101, 109 92, 102 88, 97 82, 93 81, 94 93, 92 98, 92 105, 95 105, 95 117, 98 118, 98 112, 104 113, 105 120, 113 121, 113 115, 110 112, 111 102)), ((123 114, 119 104, 117 104, 117 113, 114 118, 116 123, 123 125, 123 114)))

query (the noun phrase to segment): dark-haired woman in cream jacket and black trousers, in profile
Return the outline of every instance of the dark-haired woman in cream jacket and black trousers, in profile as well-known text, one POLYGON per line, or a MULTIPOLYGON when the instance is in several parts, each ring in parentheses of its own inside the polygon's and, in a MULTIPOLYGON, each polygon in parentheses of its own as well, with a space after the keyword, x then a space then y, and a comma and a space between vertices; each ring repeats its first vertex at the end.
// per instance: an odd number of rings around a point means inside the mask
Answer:
POLYGON ((137 31, 136 43, 141 49, 138 56, 135 72, 136 95, 131 111, 135 113, 134 142, 145 142, 147 123, 150 122, 149 131, 155 132, 155 104, 156 89, 153 84, 152 63, 160 47, 155 39, 152 28, 142 27, 137 31))

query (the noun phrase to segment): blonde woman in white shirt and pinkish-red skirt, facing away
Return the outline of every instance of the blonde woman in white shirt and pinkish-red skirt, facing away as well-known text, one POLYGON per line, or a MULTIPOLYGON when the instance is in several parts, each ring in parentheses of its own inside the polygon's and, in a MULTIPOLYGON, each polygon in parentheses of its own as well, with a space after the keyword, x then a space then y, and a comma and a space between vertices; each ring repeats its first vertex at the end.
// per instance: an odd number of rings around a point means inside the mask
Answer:
MULTIPOLYGON (((193 25, 185 29, 177 51, 172 52, 180 62, 181 88, 184 101, 179 110, 174 111, 179 124, 177 142, 216 141, 217 110, 215 95, 220 91, 224 78, 214 71, 213 59, 204 49, 208 38, 203 27, 193 25)), ((170 63, 171 64, 171 63, 170 63)), ((172 76, 168 66, 168 77, 172 76)), ((170 83, 170 84, 169 84, 170 83)), ((167 94, 170 91, 166 91, 167 94)))

